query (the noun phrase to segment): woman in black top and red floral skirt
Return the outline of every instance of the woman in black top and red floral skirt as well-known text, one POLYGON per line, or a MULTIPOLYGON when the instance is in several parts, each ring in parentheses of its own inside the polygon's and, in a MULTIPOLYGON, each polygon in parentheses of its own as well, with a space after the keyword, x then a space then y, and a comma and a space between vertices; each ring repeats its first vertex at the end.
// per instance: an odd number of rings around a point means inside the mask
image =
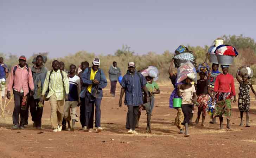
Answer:
POLYGON ((200 115, 202 113, 201 126, 204 126, 204 120, 206 116, 206 107, 211 95, 211 91, 209 89, 209 82, 208 82, 208 77, 211 74, 210 67, 205 63, 199 64, 197 67, 197 73, 199 73, 200 79, 197 80, 197 85, 196 85, 197 103, 199 103, 199 105, 197 105, 198 112, 197 112, 196 124, 199 123, 200 115))

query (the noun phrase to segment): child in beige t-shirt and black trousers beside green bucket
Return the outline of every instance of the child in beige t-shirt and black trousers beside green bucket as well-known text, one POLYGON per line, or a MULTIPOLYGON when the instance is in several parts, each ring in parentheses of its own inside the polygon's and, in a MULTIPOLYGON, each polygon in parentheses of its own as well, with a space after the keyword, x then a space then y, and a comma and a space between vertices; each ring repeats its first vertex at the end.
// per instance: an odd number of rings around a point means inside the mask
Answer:
POLYGON ((181 109, 184 113, 184 120, 181 124, 185 125, 185 137, 190 137, 190 134, 188 134, 188 123, 191 118, 193 104, 197 100, 196 89, 191 82, 192 80, 190 78, 186 78, 185 84, 177 86, 177 95, 182 97, 181 109))

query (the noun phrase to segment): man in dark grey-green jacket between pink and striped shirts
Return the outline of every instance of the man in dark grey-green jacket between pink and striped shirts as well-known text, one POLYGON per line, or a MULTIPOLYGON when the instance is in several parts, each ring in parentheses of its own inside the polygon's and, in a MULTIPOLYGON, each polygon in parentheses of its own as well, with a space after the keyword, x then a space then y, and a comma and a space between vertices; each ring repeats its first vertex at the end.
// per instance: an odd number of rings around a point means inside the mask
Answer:
MULTIPOLYGON (((34 81, 34 95, 30 97, 30 113, 32 117, 33 127, 38 130, 41 129, 41 119, 43 115, 44 101, 42 100, 41 93, 46 78, 47 68, 43 65, 43 56, 37 55, 35 64, 31 67, 33 81, 34 81)), ((27 107, 28 119, 28 107, 27 107)))

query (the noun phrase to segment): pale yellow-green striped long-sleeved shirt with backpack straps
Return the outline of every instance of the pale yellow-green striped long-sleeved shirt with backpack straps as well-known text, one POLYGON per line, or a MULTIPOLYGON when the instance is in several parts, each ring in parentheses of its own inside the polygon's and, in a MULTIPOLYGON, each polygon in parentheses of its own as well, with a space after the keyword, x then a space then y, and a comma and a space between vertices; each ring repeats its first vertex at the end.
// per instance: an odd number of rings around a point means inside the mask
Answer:
POLYGON ((57 100, 63 100, 64 95, 69 94, 68 75, 64 71, 62 71, 63 73, 63 79, 62 79, 60 70, 58 70, 57 72, 53 70, 50 77, 50 82, 49 82, 50 72, 51 71, 48 71, 46 74, 42 95, 44 96, 49 86, 49 93, 46 96, 46 98, 50 98, 53 94, 55 94, 57 97, 57 100), (63 82, 64 82, 64 86, 63 86, 63 82), (65 90, 64 90, 64 87, 65 87, 65 90))

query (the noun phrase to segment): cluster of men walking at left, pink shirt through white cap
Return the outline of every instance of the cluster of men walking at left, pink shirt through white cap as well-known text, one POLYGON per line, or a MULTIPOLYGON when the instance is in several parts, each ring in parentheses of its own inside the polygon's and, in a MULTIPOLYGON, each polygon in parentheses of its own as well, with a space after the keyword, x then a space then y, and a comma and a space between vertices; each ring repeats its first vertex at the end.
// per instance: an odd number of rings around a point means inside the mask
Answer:
MULTIPOLYGON (((96 132, 101 132, 100 106, 102 89, 107 86, 107 79, 99 66, 100 59, 95 58, 92 67, 84 61, 78 68, 70 65, 69 71, 66 71, 64 62, 54 60, 52 70, 48 71, 41 55, 36 57, 31 68, 26 64, 26 57, 20 56, 19 64, 11 70, 6 95, 11 99, 13 90, 15 105, 12 129, 24 129, 28 125, 29 109, 33 127, 41 129, 44 102, 49 100, 53 132, 76 129, 78 106, 82 129, 88 129, 89 132, 93 131, 95 106, 96 132)), ((0 68, 8 74, 6 66, 2 65, 0 68)))

